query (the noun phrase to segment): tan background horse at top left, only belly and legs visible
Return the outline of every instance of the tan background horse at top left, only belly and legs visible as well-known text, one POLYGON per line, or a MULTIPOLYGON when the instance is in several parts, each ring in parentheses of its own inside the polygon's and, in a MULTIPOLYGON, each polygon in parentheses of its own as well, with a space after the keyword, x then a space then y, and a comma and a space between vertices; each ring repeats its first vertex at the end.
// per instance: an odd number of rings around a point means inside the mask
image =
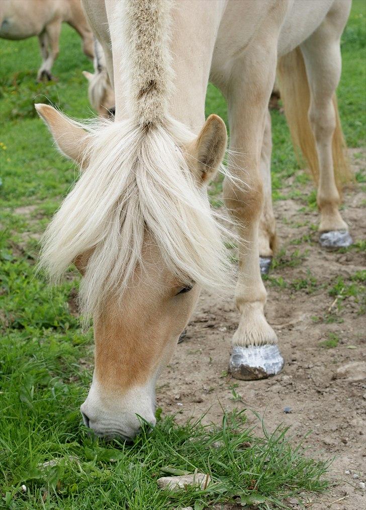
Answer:
POLYGON ((52 79, 53 62, 59 55, 61 23, 66 21, 82 39, 83 52, 93 58, 93 33, 81 0, 1 0, 0 37, 20 40, 38 36, 42 65, 37 80, 52 79))

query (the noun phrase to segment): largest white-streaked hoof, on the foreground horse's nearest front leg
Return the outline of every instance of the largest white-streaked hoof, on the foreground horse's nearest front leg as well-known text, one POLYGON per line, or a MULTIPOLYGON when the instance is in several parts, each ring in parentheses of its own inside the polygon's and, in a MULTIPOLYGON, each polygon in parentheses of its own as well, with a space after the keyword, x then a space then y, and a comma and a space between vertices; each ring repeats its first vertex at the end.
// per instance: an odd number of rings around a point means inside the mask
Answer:
POLYGON ((284 359, 277 345, 267 344, 251 347, 235 345, 230 356, 229 371, 236 379, 265 379, 278 374, 284 367, 284 359))

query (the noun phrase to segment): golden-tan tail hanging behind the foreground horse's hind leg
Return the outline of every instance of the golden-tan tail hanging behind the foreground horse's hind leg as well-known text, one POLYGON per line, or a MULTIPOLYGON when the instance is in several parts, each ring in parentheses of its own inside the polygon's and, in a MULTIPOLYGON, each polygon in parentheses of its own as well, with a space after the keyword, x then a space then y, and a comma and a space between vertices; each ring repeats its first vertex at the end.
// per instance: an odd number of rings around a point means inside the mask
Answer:
MULTIPOLYGON (((300 150, 313 174, 314 181, 318 184, 318 154, 308 118, 310 90, 305 63, 299 47, 284 57, 280 57, 277 65, 277 75, 281 99, 283 100, 296 156, 300 162, 300 150)), ((335 94, 333 95, 333 107, 336 119, 332 140, 333 167, 335 182, 341 194, 343 185, 351 181, 352 174, 347 158, 347 147, 342 132, 335 94)))

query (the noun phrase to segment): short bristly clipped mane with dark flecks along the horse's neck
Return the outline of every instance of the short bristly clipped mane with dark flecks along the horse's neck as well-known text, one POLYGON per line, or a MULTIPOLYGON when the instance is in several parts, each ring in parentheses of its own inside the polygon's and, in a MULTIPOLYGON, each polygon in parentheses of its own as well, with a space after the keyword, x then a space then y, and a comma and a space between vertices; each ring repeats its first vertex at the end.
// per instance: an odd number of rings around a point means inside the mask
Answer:
POLYGON ((128 0, 125 11, 126 53, 135 120, 142 126, 167 115, 172 86, 169 39, 173 2, 128 0))

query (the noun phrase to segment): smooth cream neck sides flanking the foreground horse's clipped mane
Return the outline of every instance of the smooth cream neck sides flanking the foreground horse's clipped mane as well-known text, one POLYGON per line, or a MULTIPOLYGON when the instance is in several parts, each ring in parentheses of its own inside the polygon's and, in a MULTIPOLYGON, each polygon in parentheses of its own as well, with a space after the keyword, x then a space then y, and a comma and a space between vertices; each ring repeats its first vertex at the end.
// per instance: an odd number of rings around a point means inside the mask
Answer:
MULTIPOLYGON (((226 6, 226 0, 196 2, 185 0, 176 3, 171 11, 170 38, 167 41, 173 70, 168 113, 198 133, 205 121, 205 97, 216 34, 226 6)), ((108 21, 116 10, 112 2, 106 3, 108 21)), ((129 74, 124 62, 121 31, 116 23, 110 23, 110 38, 114 65, 114 88, 116 94, 116 120, 131 115, 129 74)))

